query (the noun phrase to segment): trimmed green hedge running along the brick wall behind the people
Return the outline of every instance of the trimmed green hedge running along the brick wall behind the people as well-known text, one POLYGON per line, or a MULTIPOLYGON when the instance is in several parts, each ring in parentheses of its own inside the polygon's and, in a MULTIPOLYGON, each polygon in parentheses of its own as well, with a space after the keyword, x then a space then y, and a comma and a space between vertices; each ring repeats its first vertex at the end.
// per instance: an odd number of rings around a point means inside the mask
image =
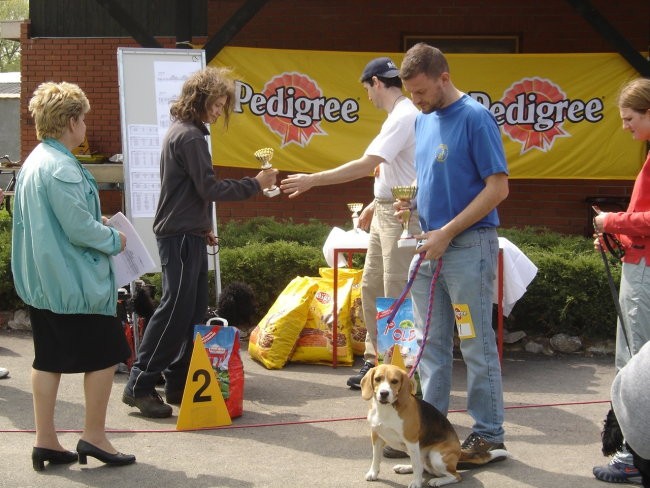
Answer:
MULTIPOLYGON (((282 290, 296 276, 318 276, 326 266, 322 247, 331 227, 319 221, 295 224, 268 217, 230 221, 219 228, 221 284, 243 281, 255 291, 259 321, 282 290)), ((602 257, 593 240, 566 236, 543 228, 500 229, 499 234, 519 247, 538 267, 538 273, 517 302, 505 325, 529 335, 565 332, 590 339, 615 337, 616 311, 602 257)), ((0 309, 20 308, 10 268, 11 219, 0 212, 0 309)), ((365 255, 356 254, 362 267, 365 255)), ((609 258, 611 260, 611 258, 609 258)), ((620 266, 610 267, 616 287, 620 266)), ((159 273, 144 280, 162 291, 159 273)), ((214 276, 210 277, 214 304, 214 276)))

